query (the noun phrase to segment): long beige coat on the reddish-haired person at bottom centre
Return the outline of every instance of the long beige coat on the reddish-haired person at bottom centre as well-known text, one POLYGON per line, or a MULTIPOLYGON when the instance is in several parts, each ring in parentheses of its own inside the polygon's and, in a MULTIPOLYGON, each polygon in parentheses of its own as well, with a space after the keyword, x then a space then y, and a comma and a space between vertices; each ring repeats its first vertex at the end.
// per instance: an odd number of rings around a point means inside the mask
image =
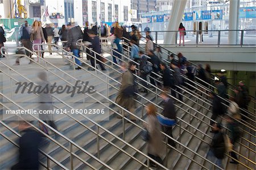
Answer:
POLYGON ((154 115, 148 115, 146 129, 150 134, 150 140, 147 143, 148 154, 162 157, 164 155, 163 135, 160 131, 161 127, 158 118, 154 115))

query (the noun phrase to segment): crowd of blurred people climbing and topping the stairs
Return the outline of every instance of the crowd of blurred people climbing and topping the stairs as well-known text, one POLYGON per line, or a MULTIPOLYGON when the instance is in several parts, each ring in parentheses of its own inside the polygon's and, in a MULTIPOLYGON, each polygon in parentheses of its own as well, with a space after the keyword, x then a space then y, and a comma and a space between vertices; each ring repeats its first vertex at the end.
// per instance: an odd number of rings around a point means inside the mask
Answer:
MULTIPOLYGON (((168 56, 167 60, 163 60, 163 53, 161 48, 153 43, 153 39, 150 35, 150 31, 146 31, 146 45, 145 51, 139 49, 139 40, 142 38, 141 33, 138 31, 136 26, 131 26, 132 31, 127 32, 126 27, 119 26, 118 22, 115 22, 112 27, 108 27, 106 24, 101 24, 100 27, 97 27, 97 24, 89 26, 89 23, 86 22, 84 31, 81 30, 81 27, 75 26, 74 23, 69 23, 67 26, 63 25, 61 29, 55 27, 53 28, 51 24, 47 24, 46 27, 42 27, 42 23, 35 20, 32 26, 29 26, 25 21, 24 25, 20 27, 20 41, 22 45, 32 51, 32 43, 41 44, 48 43, 48 51, 52 54, 52 40, 56 44, 59 39, 63 41, 63 46, 67 51, 72 51, 75 58, 75 63, 77 65, 76 69, 81 69, 82 63, 79 60, 80 57, 80 45, 77 44, 77 40, 82 39, 83 42, 89 42, 88 48, 86 48, 86 57, 90 60, 90 63, 93 68, 97 68, 97 64, 100 65, 102 71, 105 71, 104 60, 102 59, 101 54, 101 43, 100 37, 113 36, 112 48, 113 52, 113 62, 115 64, 122 65, 122 53, 124 50, 129 54, 130 59, 128 67, 125 69, 125 72, 122 74, 121 87, 118 92, 115 102, 129 110, 131 113, 134 113, 136 109, 136 93, 148 93, 149 89, 154 90, 156 87, 161 88, 164 92, 160 94, 163 99, 164 109, 162 115, 164 118, 164 123, 160 121, 158 115, 156 114, 156 107, 152 104, 147 106, 147 123, 144 127, 147 130, 147 135, 151 138, 147 138, 148 143, 148 156, 152 159, 155 159, 162 164, 162 135, 160 131, 164 131, 168 136, 172 135, 172 127, 170 126, 171 122, 176 122, 176 109, 174 105, 174 100, 172 97, 179 99, 180 102, 183 102, 183 90, 182 86, 187 86, 188 89, 194 90, 195 81, 200 85, 198 86, 201 93, 209 94, 209 98, 212 99, 212 117, 210 125, 212 126, 212 131, 214 133, 212 144, 210 145, 209 157, 214 161, 214 157, 217 158, 216 164, 220 167, 222 166, 222 159, 224 159, 225 154, 225 140, 226 137, 222 131, 222 125, 216 123, 218 115, 224 115, 228 112, 228 135, 232 144, 239 139, 241 136, 240 132, 240 117, 243 120, 246 120, 248 115, 246 111, 242 110, 242 115, 240 116, 239 108, 247 110, 247 105, 250 102, 249 92, 245 84, 241 81, 237 88, 234 89, 234 97, 229 98, 228 96, 228 81, 223 72, 218 74, 218 79, 214 80, 212 77, 210 65, 199 64, 195 68, 182 53, 178 53, 177 56, 172 54, 168 56), (125 39, 123 39, 125 38, 125 39), (124 45, 123 48, 120 44, 120 41, 123 39, 129 45, 124 45), (129 48, 128 48, 129 47, 129 48), (92 50, 91 50, 91 49, 92 50), (130 49, 130 50, 128 50, 130 49), (97 60, 96 60, 97 59, 97 60), (96 61, 96 63, 95 63, 96 61), (159 78, 159 74, 162 75, 162 78, 159 78), (138 89, 136 83, 136 75, 141 77, 142 89, 138 89), (147 81, 149 76, 150 85, 147 81), (184 79, 184 76, 187 76, 188 80, 184 79), (196 77, 198 79, 196 79, 196 77), (185 84, 185 82, 188 82, 185 84), (207 88, 214 90, 213 86, 217 88, 217 91, 207 92, 207 88), (171 97, 172 96, 172 97, 171 97), (229 107, 225 106, 227 99, 230 99, 229 107), (166 123, 167 122, 167 123, 166 123)), ((180 39, 183 39, 184 45, 184 31, 185 28, 182 24, 179 27, 180 39)), ((0 28, 0 47, 3 44, 2 31, 0 28), (2 41, 2 42, 1 42, 2 41)), ((43 47, 38 45, 35 46, 36 50, 40 50, 43 47)), ((27 56, 32 56, 32 54, 26 51, 27 56)), ((38 56, 44 56, 43 52, 38 52, 38 56)), ((16 60, 16 65, 19 65, 19 59, 16 60)), ((93 70, 92 68, 90 68, 93 70)), ((121 113, 122 110, 119 111, 121 113)), ((135 113, 134 113, 135 114, 135 113)), ((127 117, 130 114, 124 113, 127 117)), ((118 115, 118 118, 122 118, 118 115)), ((133 115, 130 115, 130 120, 136 122, 136 118, 133 115)), ((27 126, 27 124, 24 124, 27 126)), ((55 127, 56 128, 56 127, 55 127)), ((33 132, 29 132, 33 135, 33 132)), ((35 134, 34 134, 35 135, 35 134)), ((38 138, 38 141, 40 139, 38 138)), ((176 148, 175 141, 172 139, 167 140, 168 144, 176 148)), ((36 147, 36 146, 35 146, 36 147)), ((237 156, 235 152, 231 151, 230 155, 233 157, 233 160, 230 163, 237 164, 237 156)), ((38 164, 38 163, 36 163, 38 164)), ((151 165, 156 166, 156 164, 151 163, 151 165)))

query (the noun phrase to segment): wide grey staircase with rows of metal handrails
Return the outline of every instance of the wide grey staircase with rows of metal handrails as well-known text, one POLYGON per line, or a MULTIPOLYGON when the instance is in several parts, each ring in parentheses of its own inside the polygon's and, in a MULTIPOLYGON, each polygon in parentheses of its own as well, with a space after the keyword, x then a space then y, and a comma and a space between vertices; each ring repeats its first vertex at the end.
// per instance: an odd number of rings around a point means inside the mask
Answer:
MULTIPOLYGON (((41 65, 46 67, 48 72, 56 72, 57 74, 52 77, 51 81, 61 82, 63 85, 74 81, 72 77, 69 77, 67 72, 72 69, 69 65, 63 65, 61 59, 69 60, 67 57, 63 57, 62 49, 59 52, 59 59, 42 59, 41 65), (57 72, 58 71, 58 72, 57 72), (63 72, 61 72, 63 71, 63 72), (59 76, 59 77, 58 77, 59 76), (64 80, 62 80, 62 79, 64 80)), ((111 53, 111 48, 106 48, 111 53)), ((108 55, 108 54, 106 54, 108 55)), ((9 55, 9 63, 12 65, 14 57, 9 55)), ((125 56, 124 59, 127 61, 125 56)), ((40 160, 42 164, 47 165, 52 169, 146 169, 146 161, 149 159, 146 155, 146 143, 141 138, 141 130, 143 119, 146 118, 146 112, 144 107, 146 103, 153 102, 158 106, 158 113, 162 110, 162 101, 159 98, 160 89, 154 92, 146 94, 139 94, 137 98, 137 109, 134 114, 137 116, 137 123, 130 122, 127 118, 117 119, 120 106, 118 106, 114 101, 118 93, 118 88, 121 82, 121 72, 119 68, 113 67, 112 59, 108 59, 106 67, 108 67, 108 74, 101 73, 96 69, 96 71, 86 71, 90 64, 88 61, 83 60, 85 63, 84 69, 80 71, 75 71, 76 77, 82 77, 86 74, 87 80, 92 80, 98 74, 103 74, 108 77, 108 94, 101 96, 96 94, 96 96, 76 96, 77 100, 73 102, 74 106, 69 106, 67 104, 68 97, 63 95, 56 96, 54 101, 55 107, 59 109, 69 109, 69 108, 84 108, 84 102, 90 101, 88 108, 97 108, 100 106, 102 109, 109 109, 109 121, 94 121, 83 115, 63 115, 56 119, 56 125, 58 131, 56 134, 47 136, 45 143, 43 143, 42 151, 45 152, 44 156, 40 155, 40 160), (90 79, 92 78, 92 79, 90 79), (104 98, 105 97, 105 98, 104 98), (109 105, 105 105, 106 99, 109 105), (96 103, 97 102, 97 103, 96 103), (72 154, 70 154, 72 148, 72 154), (54 158, 54 161, 49 158, 54 158), (50 163, 48 163, 50 162, 50 163), (62 165, 62 167, 60 167, 62 165), (65 167, 65 168, 64 168, 65 167)), ((72 60, 70 60, 72 62, 72 60)), ((11 66, 8 68, 7 60, 0 61, 0 71, 2 75, 8 76, 8 71, 13 69, 12 72, 22 69, 24 66, 11 66)), ((27 69, 41 68, 39 64, 26 65, 27 69)), ((19 73, 19 72, 18 72, 19 73)), ((16 74, 18 74, 16 73, 16 74)), ((36 75, 23 75, 14 76, 12 78, 26 79, 29 78, 33 80, 36 75)), ((19 80, 19 79, 18 79, 19 80)), ((20 81, 21 81, 20 80, 20 81)), ((13 79, 14 81, 14 79, 13 79)), ((23 80, 24 81, 24 80, 23 80)), ((74 85, 74 84, 73 84, 74 85)), ((95 84, 97 87, 101 87, 102 84, 95 84)), ((183 91, 184 102, 176 102, 177 117, 179 118, 179 123, 173 129, 174 139, 178 143, 178 148, 173 148, 169 146, 166 148, 164 169, 209 169, 215 164, 210 163, 204 157, 207 157, 207 152, 209 150, 209 143, 211 141, 212 135, 209 134, 209 118, 211 115, 211 106, 205 103, 203 97, 199 97, 195 92, 189 92, 188 89, 183 91), (195 102, 197 101, 197 102, 195 102)), ((5 94, 11 93, 10 82, 3 82, 3 89, 5 94), (8 93, 9 92, 9 93, 8 93)), ((7 107, 8 109, 17 109, 19 103, 10 102, 11 97, 3 94, 3 89, 1 90, 1 105, 7 107), (9 101, 7 103, 6 101, 9 101)), ((100 93, 100 91, 98 91, 100 93)), ((30 101, 36 98, 36 95, 27 96, 30 101)), ((21 105, 22 103, 20 103, 21 105)), ((22 105, 23 106, 23 105, 22 105)), ((87 106, 87 105, 86 105, 87 106)), ((23 106, 24 109, 33 108, 33 103, 26 103, 23 106)), ((6 109, 7 109, 6 108, 6 109)), ((122 110, 125 110, 121 108, 122 110)), ((3 111, 3 110, 2 110, 3 111)), ((127 110, 126 110, 127 111, 127 110)), ((2 113, 3 114, 3 113, 2 113)), ((130 113, 133 114, 133 113, 130 113)), ((0 121, 3 125, 1 126, 1 143, 0 151, 5 153, 7 150, 8 154, 1 154, 1 169, 9 169, 17 159, 17 147, 10 142, 14 141, 17 143, 19 138, 18 124, 15 121, 0 121), (9 140, 8 140, 8 139, 9 140)), ((34 128, 38 125, 35 123, 34 128)), ((253 124, 252 124, 253 125, 253 124)), ((255 126, 254 126, 255 127, 255 126)), ((51 127, 49 127, 51 128, 51 127)), ((244 129, 249 132, 249 134, 244 133, 243 138, 239 142, 238 153, 239 165, 229 164, 229 156, 226 156, 224 160, 225 169, 253 169, 255 167, 255 130, 253 126, 244 129), (247 141, 249 140, 249 141, 247 141), (249 160, 245 159, 247 157, 249 160)), ((54 130, 53 130, 54 131, 54 130)), ((165 141, 163 141, 165 142, 165 141)), ((47 168, 44 167, 44 168, 47 168)), ((150 169, 154 169, 150 167, 150 169)))

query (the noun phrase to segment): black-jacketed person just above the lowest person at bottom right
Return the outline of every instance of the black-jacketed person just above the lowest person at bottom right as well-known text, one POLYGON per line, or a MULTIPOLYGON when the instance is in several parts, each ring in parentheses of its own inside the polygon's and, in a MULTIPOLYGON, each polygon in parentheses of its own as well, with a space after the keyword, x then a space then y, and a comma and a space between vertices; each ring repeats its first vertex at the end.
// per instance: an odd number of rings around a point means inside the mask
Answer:
MULTIPOLYGON (((213 126, 213 121, 216 121, 218 115, 224 114, 224 105, 221 103, 222 100, 214 92, 210 93, 210 98, 212 98, 212 117, 210 117, 210 125, 213 126)), ((214 132, 214 130, 212 129, 210 132, 214 132)))

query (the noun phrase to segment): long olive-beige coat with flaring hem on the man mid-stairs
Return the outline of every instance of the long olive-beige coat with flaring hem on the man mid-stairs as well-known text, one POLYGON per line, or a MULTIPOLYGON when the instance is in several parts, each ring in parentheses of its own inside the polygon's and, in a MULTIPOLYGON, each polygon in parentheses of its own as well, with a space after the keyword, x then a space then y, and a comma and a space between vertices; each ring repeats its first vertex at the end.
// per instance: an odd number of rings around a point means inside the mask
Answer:
POLYGON ((134 85, 134 76, 130 70, 127 70, 125 73, 123 73, 121 84, 122 85, 120 86, 120 91, 117 94, 115 102, 117 102, 118 105, 131 110, 133 107, 135 107, 135 101, 133 97, 126 97, 123 95, 123 90, 125 90, 128 86, 134 85))

